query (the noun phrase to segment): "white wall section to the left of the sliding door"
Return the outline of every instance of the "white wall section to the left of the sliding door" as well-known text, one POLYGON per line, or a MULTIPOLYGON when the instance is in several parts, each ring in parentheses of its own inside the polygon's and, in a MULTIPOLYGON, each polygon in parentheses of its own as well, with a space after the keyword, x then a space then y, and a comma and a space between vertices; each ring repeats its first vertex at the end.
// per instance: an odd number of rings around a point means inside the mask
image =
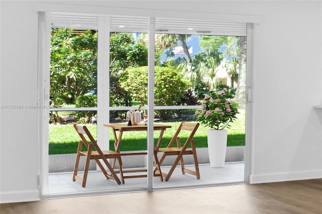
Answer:
POLYGON ((38 15, 28 2, 1 2, 1 201, 39 198, 37 110, 38 15), (17 106, 19 108, 19 106, 17 106))

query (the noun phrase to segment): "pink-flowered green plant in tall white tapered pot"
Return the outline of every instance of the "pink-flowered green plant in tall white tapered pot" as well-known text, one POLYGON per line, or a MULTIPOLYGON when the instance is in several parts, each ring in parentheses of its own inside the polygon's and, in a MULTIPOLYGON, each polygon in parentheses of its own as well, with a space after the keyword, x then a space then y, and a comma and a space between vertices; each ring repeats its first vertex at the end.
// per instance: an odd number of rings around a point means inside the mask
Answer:
POLYGON ((211 167, 223 167, 226 157, 227 130, 229 123, 236 119, 238 104, 228 98, 227 88, 210 90, 202 100, 202 109, 195 112, 196 121, 207 130, 208 152, 211 167))

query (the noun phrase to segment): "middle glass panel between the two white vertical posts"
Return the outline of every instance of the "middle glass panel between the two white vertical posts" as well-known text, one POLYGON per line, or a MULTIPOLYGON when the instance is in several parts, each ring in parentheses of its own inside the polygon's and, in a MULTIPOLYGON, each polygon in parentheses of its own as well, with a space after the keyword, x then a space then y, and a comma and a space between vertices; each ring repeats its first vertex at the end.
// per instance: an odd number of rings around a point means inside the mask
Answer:
MULTIPOLYGON (((125 28, 129 24, 124 24, 125 28)), ((139 106, 147 104, 147 34, 129 32, 110 33, 110 106, 132 106, 135 112, 139 106)), ((146 107, 145 107, 146 108, 146 107)), ((140 111, 144 113, 144 111, 140 111)), ((135 113, 133 113, 135 114, 135 113)), ((138 120, 143 119, 142 116, 138 120)), ((110 123, 124 123, 135 126, 127 110, 110 111, 110 123)), ((141 123, 143 124, 143 123, 141 123)), ((118 131, 116 136, 119 137, 118 131)), ((110 149, 115 150, 115 139, 110 129, 110 149)), ((147 150, 146 131, 124 131, 120 141, 121 153, 136 153, 147 150)), ((146 155, 129 155, 122 157, 122 168, 125 176, 146 175, 146 155), (126 173, 131 170, 132 172, 126 173), (133 172, 133 170, 135 172, 133 172)), ((146 177, 125 179, 122 186, 129 188, 135 183, 136 188, 146 187, 146 177)))

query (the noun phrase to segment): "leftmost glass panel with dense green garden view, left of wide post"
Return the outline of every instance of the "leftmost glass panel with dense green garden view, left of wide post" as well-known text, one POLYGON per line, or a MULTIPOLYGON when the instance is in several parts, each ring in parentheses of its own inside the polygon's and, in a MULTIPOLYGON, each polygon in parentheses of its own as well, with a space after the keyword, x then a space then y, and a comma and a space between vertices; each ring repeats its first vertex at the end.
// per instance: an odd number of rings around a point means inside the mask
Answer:
POLYGON ((97 39, 96 30, 51 29, 49 155, 77 152, 80 138, 73 123, 86 124, 96 139, 97 112, 74 109, 97 106, 97 39))

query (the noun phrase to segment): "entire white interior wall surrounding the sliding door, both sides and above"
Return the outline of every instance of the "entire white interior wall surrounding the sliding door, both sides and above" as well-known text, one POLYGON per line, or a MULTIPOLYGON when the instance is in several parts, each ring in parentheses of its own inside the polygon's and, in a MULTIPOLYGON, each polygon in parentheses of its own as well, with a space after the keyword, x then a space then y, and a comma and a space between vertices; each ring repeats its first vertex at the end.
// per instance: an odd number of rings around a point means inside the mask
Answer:
MULTIPOLYGON (((0 104, 36 105, 35 2, 0 4, 0 104)), ((322 110, 312 108, 322 104, 321 2, 79 1, 79 4, 261 16, 260 23, 254 25, 250 180, 260 183, 322 177, 322 110)), ((198 15, 191 13, 191 18, 197 19, 198 15)), ((36 110, 1 109, 1 202, 39 198, 37 117, 36 110)))

